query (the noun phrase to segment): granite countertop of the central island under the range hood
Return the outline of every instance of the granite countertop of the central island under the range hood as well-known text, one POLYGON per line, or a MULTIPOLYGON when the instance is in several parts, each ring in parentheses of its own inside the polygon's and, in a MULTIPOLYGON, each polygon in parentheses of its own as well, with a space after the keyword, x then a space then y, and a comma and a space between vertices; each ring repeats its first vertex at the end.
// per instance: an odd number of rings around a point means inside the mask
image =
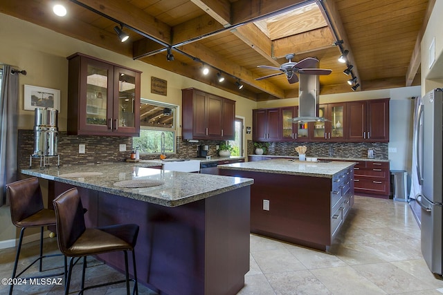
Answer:
POLYGON ((307 162, 298 161, 296 159, 275 159, 269 161, 224 164, 218 165, 217 168, 332 178, 336 173, 354 166, 354 164, 354 162, 307 162))

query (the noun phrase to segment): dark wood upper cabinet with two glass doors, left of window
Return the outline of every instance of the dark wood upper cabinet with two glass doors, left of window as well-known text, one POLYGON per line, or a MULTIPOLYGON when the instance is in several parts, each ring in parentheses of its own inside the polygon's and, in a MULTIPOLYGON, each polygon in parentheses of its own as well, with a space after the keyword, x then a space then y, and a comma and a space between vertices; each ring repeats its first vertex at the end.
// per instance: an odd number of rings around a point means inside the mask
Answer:
POLYGON ((75 53, 69 60, 69 135, 138 136, 141 72, 75 53))

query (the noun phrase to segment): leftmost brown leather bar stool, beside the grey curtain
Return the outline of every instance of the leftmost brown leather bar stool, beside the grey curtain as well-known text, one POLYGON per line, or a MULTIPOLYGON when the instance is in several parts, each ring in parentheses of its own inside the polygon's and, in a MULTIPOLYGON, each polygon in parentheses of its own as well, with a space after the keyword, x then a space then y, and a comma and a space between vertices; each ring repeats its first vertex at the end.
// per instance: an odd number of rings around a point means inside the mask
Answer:
MULTIPOLYGON (((38 178, 26 178, 17 182, 6 184, 6 195, 10 202, 10 212, 12 223, 21 228, 17 254, 15 255, 14 269, 12 269, 12 279, 18 278, 26 272, 32 265, 39 261, 39 272, 42 272, 42 260, 46 257, 62 256, 63 254, 43 255, 43 231, 44 227, 55 226, 55 211, 45 209, 38 178), (19 262, 21 242, 23 241, 24 231, 30 227, 40 227, 40 252, 39 258, 35 259, 25 269, 17 274, 17 265, 19 262)), ((66 269, 66 257, 64 258, 66 269)), ((59 274, 46 274, 34 276, 33 278, 47 278, 50 276, 60 276, 59 274)), ((9 294, 12 294, 13 284, 10 285, 9 294)))

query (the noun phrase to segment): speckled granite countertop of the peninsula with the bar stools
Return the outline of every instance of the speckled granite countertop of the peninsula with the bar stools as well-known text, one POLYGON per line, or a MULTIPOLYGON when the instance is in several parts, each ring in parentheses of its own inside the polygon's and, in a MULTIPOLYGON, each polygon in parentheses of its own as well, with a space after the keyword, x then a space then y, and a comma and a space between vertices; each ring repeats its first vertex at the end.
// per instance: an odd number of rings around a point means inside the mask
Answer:
POLYGON ((253 179, 250 178, 163 171, 126 162, 21 169, 21 173, 166 207, 177 207, 253 184, 253 179), (71 173, 84 177, 66 177, 66 174, 71 173), (98 175, 99 173, 101 174, 98 175), (136 189, 114 186, 115 182, 124 180, 164 181, 164 184, 136 189))

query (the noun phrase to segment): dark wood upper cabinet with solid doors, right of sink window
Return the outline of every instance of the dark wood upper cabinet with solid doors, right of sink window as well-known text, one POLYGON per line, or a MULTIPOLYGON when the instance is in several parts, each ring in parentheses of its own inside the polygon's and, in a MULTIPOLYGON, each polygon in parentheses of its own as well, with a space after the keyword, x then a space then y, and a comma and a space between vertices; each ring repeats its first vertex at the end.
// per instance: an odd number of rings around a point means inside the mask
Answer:
POLYGON ((235 101, 195 88, 182 89, 185 140, 234 140, 235 101))

